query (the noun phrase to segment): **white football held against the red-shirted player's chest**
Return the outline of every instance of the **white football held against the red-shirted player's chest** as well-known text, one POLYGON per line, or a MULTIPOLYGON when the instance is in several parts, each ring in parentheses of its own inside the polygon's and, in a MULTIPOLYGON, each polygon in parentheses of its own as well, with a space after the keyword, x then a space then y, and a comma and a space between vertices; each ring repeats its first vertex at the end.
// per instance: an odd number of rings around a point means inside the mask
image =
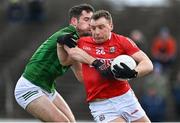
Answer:
MULTIPOLYGON (((119 55, 116 58, 114 58, 114 60, 111 63, 111 71, 112 71, 112 73, 113 73, 113 69, 114 69, 113 66, 114 65, 117 64, 119 67, 122 68, 120 63, 126 64, 132 70, 136 67, 136 62, 135 62, 135 60, 131 56, 128 56, 128 55, 119 55)), ((127 79, 116 78, 116 79, 117 80, 128 80, 128 78, 127 79)))

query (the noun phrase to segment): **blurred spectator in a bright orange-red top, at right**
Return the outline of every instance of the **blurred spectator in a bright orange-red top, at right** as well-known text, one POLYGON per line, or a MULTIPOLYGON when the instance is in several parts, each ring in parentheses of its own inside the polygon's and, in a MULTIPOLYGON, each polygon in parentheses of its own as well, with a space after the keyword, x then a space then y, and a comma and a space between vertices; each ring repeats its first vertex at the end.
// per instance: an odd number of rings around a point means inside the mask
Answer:
POLYGON ((163 27, 153 40, 151 53, 154 62, 165 66, 171 65, 176 57, 176 40, 171 36, 167 27, 163 27))

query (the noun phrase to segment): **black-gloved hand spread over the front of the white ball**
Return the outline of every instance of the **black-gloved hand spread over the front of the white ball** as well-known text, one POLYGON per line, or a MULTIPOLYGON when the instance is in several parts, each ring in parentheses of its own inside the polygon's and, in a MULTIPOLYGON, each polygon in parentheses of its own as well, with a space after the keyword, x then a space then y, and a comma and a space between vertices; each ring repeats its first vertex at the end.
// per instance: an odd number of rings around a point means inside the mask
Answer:
POLYGON ((116 78, 136 78, 137 77, 137 74, 138 72, 135 71, 135 70, 131 70, 126 64, 124 63, 120 63, 120 65, 122 66, 119 67, 118 65, 114 65, 113 66, 113 73, 114 73, 114 76, 116 78))

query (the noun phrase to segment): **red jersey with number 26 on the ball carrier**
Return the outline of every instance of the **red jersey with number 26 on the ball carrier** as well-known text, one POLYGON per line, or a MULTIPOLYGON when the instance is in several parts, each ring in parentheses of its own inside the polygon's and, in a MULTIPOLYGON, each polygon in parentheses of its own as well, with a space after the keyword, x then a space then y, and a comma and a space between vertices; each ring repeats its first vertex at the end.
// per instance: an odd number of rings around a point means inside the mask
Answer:
MULTIPOLYGON (((112 60, 121 54, 132 55, 139 51, 136 44, 129 38, 115 33, 111 33, 111 38, 101 44, 95 43, 92 37, 80 38, 78 46, 107 65, 110 65, 112 60)), ((91 65, 82 64, 82 73, 88 102, 97 98, 106 99, 119 96, 130 89, 127 81, 109 80, 91 65)))

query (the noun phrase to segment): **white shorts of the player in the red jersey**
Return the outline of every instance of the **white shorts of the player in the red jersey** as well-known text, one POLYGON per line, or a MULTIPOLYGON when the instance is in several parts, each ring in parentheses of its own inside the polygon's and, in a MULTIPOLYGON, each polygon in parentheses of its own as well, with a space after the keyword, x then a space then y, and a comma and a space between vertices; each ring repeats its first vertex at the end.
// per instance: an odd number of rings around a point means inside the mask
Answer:
POLYGON ((127 122, 135 121, 146 115, 133 90, 103 101, 90 102, 89 108, 96 122, 109 122, 123 117, 127 122))

